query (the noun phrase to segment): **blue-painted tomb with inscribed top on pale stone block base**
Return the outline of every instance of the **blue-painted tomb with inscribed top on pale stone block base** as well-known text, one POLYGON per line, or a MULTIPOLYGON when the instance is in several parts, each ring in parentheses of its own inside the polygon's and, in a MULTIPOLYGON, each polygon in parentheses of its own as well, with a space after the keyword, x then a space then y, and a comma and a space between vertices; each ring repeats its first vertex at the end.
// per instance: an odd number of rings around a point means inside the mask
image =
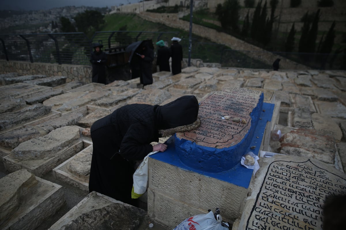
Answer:
MULTIPOLYGON (((274 111, 274 104, 269 103, 263 103, 261 109, 257 108, 261 98, 263 100, 261 91, 243 88, 227 89, 209 95, 200 103, 201 127, 191 133, 175 134, 166 141, 168 147, 165 152, 158 152, 149 157, 147 190, 149 217, 167 229, 173 229, 186 217, 207 213, 208 209, 220 208, 222 218, 229 222, 233 222, 240 216, 253 174, 252 169, 241 165, 240 159, 248 151, 258 154, 263 148, 262 144, 268 136, 266 133, 270 133, 274 111), (257 115, 253 114, 256 112, 257 115), (224 116, 232 118, 221 119, 224 116), (243 124, 240 123, 241 121, 234 122, 233 117, 242 117, 247 122, 243 124), (252 119, 257 120, 257 124, 252 119), (228 134, 229 131, 234 130, 233 128, 237 129, 240 126, 242 129, 236 130, 238 134, 235 132, 228 134), (190 158, 190 162, 181 160, 180 151, 184 146, 177 148, 175 142, 184 135, 188 138, 192 135, 203 137, 196 140, 199 141, 200 148, 205 147, 207 153, 196 154, 197 151, 193 152, 193 148, 197 143, 189 142, 185 147, 191 147, 190 152, 195 159, 190 158), (248 140, 243 140, 244 137, 248 140), (237 146, 238 143, 246 147, 237 146), (242 148, 242 152, 235 153, 236 158, 240 158, 231 162, 232 160, 227 156, 228 152, 225 151, 224 154, 218 156, 219 161, 214 160, 212 145, 215 146, 216 154, 217 151, 232 146, 242 148), (216 145, 221 148, 218 149, 216 145), (204 158, 206 155, 207 157, 204 158), (211 159, 212 169, 208 168, 208 159, 211 159), (229 168, 227 163, 234 166, 229 168), (199 167, 200 165, 203 167, 199 167), (207 170, 203 171, 205 168, 207 170)), ((185 151, 187 152, 187 149, 185 151)), ((232 150, 230 154, 232 155, 232 150)))

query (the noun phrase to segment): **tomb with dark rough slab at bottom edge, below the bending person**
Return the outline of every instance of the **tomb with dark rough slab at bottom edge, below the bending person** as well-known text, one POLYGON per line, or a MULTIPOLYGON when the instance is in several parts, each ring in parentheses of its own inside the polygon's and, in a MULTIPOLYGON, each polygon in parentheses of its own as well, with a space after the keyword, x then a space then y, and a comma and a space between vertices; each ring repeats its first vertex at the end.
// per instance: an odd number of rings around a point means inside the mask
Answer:
MULTIPOLYGON (((147 230, 152 221, 146 212, 129 204, 91 192, 48 230, 128 229, 147 230)), ((156 230, 164 230, 154 224, 156 230)))

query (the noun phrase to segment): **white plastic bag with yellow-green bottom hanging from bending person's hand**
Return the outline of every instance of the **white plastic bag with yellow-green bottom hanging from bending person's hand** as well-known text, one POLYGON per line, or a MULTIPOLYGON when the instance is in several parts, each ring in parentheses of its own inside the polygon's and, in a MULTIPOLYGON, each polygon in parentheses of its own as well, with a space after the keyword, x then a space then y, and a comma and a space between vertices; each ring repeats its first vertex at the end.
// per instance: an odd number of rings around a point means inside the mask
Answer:
POLYGON ((131 191, 132 199, 137 199, 142 196, 148 188, 148 157, 158 151, 151 152, 139 164, 133 174, 133 187, 131 191))

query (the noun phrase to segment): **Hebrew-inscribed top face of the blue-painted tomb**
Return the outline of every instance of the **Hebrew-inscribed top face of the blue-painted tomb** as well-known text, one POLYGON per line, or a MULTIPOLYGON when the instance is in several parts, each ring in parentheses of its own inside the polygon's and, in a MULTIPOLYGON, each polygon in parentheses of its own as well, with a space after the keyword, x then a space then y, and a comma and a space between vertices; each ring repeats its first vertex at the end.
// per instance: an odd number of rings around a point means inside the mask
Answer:
POLYGON ((251 112, 260 95, 261 91, 246 88, 212 93, 200 104, 201 126, 191 132, 179 133, 178 137, 218 149, 238 144, 251 128, 251 112), (229 118, 222 119, 226 116, 229 118))

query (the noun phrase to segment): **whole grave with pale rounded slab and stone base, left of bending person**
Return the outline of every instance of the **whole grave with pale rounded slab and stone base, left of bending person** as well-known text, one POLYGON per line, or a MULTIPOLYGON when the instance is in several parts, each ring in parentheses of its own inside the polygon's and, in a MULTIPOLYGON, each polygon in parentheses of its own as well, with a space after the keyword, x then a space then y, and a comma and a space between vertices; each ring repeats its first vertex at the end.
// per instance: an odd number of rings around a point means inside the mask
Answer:
POLYGON ((40 177, 58 164, 85 148, 80 139, 80 128, 64 126, 20 143, 11 153, 3 157, 5 169, 14 172, 27 169, 40 177))

